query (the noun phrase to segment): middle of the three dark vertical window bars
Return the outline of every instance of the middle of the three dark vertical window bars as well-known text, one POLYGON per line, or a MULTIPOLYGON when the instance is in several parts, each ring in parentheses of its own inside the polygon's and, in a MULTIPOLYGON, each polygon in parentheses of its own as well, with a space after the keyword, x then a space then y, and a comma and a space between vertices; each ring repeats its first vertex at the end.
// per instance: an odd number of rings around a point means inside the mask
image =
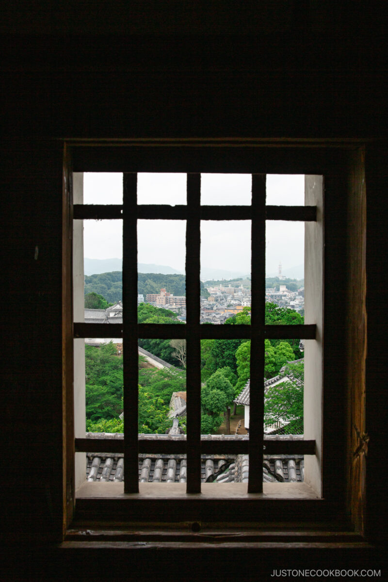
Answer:
POLYGON ((187 493, 201 492, 200 245, 201 174, 187 174, 187 493))

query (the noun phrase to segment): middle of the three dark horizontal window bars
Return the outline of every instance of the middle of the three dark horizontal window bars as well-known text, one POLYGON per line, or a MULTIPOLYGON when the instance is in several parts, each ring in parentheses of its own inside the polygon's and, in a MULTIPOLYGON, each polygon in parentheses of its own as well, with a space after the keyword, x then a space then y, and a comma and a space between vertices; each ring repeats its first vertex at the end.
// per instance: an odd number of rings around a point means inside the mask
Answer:
MULTIPOLYGON (((185 324, 139 324, 141 339, 186 339, 185 324)), ((250 325, 199 324, 201 339, 249 339, 250 325)), ((267 339, 315 339, 316 325, 265 325, 267 339)), ((122 324, 74 323, 74 338, 122 338, 122 324)))

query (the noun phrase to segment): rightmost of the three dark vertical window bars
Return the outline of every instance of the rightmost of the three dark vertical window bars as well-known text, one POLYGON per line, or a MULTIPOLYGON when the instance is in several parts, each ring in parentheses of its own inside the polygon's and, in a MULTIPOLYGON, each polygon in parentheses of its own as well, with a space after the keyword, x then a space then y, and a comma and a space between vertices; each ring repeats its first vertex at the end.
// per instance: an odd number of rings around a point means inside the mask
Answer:
POLYGON ((263 490, 265 184, 265 174, 252 174, 252 315, 248 493, 261 493, 263 490))

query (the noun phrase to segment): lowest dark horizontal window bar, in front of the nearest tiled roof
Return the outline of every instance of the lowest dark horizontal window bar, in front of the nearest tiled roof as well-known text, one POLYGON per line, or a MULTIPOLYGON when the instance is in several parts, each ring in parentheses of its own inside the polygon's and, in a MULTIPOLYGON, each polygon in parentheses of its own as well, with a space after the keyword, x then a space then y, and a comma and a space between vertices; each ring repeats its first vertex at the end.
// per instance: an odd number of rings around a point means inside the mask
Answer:
MULTIPOLYGON (((147 455, 185 455, 186 435, 183 439, 138 439, 138 452, 147 455)), ((315 455, 315 441, 270 440, 264 438, 264 455, 315 455)), ((76 452, 123 453, 124 440, 119 438, 76 438, 76 452)), ((201 439, 202 455, 247 455, 249 439, 201 439)))

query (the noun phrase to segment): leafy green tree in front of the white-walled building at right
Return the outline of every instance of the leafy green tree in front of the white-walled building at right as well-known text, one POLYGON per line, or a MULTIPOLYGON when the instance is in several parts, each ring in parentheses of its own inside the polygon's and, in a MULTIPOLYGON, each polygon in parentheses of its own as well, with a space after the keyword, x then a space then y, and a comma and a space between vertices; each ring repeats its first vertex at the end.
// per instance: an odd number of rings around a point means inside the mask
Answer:
POLYGON ((268 388, 264 402, 264 422, 270 425, 282 420, 288 423, 284 427, 284 432, 301 434, 303 432, 304 362, 287 364, 285 371, 293 379, 268 388))

